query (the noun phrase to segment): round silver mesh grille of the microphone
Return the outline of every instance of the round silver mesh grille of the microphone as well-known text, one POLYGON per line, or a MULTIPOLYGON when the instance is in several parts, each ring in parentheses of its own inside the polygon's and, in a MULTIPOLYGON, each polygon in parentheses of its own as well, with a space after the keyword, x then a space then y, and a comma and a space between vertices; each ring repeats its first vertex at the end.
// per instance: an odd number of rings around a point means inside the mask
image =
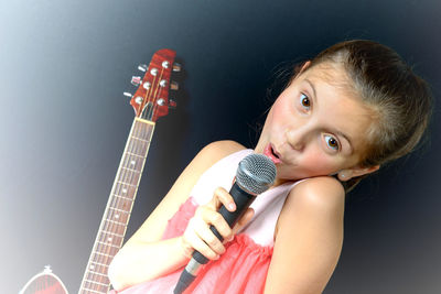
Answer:
POLYGON ((237 184, 250 194, 267 190, 276 179, 276 165, 263 154, 249 154, 239 162, 236 172, 237 184))

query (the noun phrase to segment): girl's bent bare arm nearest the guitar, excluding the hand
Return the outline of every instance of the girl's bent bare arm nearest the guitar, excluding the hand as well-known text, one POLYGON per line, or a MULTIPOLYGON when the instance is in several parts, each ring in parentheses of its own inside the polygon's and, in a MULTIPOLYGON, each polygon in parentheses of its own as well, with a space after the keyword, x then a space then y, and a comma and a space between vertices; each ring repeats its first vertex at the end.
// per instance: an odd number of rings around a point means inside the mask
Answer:
POLYGON ((138 231, 114 258, 108 275, 115 290, 152 280, 185 265, 193 248, 184 238, 161 240, 168 225, 200 176, 215 162, 244 149, 233 141, 219 141, 204 148, 185 167, 170 192, 138 231))

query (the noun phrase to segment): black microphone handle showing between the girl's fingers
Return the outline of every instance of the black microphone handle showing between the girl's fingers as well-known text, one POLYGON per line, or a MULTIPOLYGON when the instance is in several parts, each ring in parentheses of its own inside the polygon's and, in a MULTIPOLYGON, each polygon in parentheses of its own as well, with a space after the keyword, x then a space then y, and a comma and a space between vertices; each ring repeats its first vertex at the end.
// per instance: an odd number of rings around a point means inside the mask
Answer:
MULTIPOLYGON (((233 213, 228 211, 223 205, 218 213, 224 217, 229 227, 233 228, 234 225, 236 225, 236 222, 245 214, 247 208, 251 205, 251 203, 256 199, 256 196, 244 190, 239 185, 237 185, 237 182, 234 183, 233 187, 229 190, 229 194, 233 196, 233 199, 236 204, 236 210, 233 213)), ((222 235, 216 230, 213 225, 209 226, 209 229, 220 240, 220 242, 224 240, 222 235)), ((192 257, 201 264, 205 264, 208 262, 208 259, 201 254, 197 250, 193 252, 192 257)))

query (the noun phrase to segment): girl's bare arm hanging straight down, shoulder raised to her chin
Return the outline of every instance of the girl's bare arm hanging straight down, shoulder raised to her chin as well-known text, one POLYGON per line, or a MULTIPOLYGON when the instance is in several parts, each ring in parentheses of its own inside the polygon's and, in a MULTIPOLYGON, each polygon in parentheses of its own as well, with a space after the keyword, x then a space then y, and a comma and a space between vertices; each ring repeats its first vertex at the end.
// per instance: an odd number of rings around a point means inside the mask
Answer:
POLYGON ((342 250, 344 189, 332 177, 299 183, 287 197, 265 293, 322 293, 342 250))

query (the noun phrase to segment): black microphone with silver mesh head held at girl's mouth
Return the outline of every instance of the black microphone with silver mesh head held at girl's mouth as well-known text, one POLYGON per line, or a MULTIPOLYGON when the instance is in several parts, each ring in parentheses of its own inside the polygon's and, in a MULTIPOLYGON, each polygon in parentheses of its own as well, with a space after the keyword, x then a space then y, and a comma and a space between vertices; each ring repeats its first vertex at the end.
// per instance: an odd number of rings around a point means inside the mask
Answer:
MULTIPOLYGON (((276 179, 276 165, 262 154, 249 154, 239 162, 236 171, 236 181, 229 190, 236 204, 235 211, 228 211, 223 205, 218 213, 224 217, 230 228, 240 219, 256 196, 267 190, 276 179)), ((224 238, 212 225, 209 229, 223 241, 224 238)), ((173 291, 174 294, 183 293, 194 281, 202 268, 202 264, 208 262, 208 259, 197 250, 193 252, 192 259, 181 273, 180 280, 173 291)))

